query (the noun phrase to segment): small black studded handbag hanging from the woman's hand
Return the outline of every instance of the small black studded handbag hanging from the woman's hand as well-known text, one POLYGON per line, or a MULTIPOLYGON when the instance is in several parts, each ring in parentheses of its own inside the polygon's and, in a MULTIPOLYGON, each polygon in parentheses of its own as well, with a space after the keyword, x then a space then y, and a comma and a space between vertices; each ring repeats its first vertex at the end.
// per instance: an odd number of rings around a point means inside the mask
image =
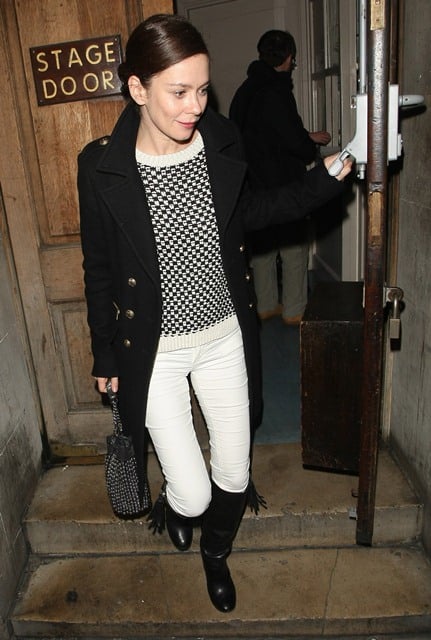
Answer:
POLYGON ((119 518, 131 519, 146 515, 152 508, 147 474, 143 486, 139 486, 138 465, 130 436, 123 433, 118 397, 112 391, 111 382, 106 386, 111 404, 114 430, 107 436, 105 456, 105 481, 112 510, 119 518))

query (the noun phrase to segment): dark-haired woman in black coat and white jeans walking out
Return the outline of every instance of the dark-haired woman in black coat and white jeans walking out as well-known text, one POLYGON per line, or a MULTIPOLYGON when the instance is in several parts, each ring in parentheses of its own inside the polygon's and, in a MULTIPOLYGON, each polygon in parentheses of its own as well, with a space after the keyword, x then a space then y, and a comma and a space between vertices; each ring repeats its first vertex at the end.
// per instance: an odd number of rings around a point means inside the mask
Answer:
POLYGON ((101 392, 109 379, 118 390, 141 465, 149 431, 178 549, 189 548, 202 516, 208 592, 227 612, 236 595, 226 559, 262 407, 244 235, 305 216, 340 192, 350 165, 337 179, 321 166, 295 187, 251 195, 237 129, 207 108, 205 43, 178 16, 152 16, 135 29, 119 76, 129 104, 112 135, 79 157, 93 375, 101 392), (210 474, 188 376, 208 427, 210 474))

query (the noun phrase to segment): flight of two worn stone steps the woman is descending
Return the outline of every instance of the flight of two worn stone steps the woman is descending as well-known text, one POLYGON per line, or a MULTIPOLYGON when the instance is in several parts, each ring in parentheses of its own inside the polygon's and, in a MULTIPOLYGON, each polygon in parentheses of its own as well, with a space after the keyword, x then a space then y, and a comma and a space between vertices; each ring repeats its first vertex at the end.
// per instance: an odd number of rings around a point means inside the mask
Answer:
MULTIPOLYGON (((154 457, 149 476, 155 499, 154 457)), ((25 520, 32 555, 16 638, 428 637, 422 506, 388 452, 370 548, 355 545, 356 477, 303 469, 299 444, 257 446, 253 477, 268 509, 244 516, 229 560, 238 605, 226 615, 209 602, 198 531, 178 553, 145 520, 113 516, 102 465, 47 471, 25 520)))

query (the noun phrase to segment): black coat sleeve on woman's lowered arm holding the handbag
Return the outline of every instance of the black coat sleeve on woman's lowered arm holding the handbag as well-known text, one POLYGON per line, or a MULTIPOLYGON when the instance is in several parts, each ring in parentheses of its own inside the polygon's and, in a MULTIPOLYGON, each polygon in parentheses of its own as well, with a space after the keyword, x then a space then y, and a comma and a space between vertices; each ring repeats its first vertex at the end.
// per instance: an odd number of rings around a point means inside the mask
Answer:
POLYGON ((94 358, 92 375, 118 376, 112 347, 117 332, 117 311, 113 295, 112 263, 106 241, 107 228, 98 206, 92 181, 93 165, 98 157, 91 145, 78 157, 78 195, 87 321, 94 358))

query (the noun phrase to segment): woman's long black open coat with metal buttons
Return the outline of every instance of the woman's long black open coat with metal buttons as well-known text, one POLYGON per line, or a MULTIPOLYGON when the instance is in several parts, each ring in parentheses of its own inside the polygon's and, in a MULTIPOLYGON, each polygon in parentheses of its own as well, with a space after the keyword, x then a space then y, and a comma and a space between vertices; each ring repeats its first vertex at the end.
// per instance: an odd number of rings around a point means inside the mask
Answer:
MULTIPOLYGON (((91 142, 78 157, 92 374, 119 376, 122 421, 138 458, 162 315, 156 244, 135 159, 139 118, 130 103, 112 135, 91 142)), ((296 185, 252 194, 236 126, 208 108, 198 128, 205 144, 224 270, 243 336, 254 430, 262 413, 261 358, 245 234, 307 215, 339 194, 341 184, 320 167, 296 185)))

